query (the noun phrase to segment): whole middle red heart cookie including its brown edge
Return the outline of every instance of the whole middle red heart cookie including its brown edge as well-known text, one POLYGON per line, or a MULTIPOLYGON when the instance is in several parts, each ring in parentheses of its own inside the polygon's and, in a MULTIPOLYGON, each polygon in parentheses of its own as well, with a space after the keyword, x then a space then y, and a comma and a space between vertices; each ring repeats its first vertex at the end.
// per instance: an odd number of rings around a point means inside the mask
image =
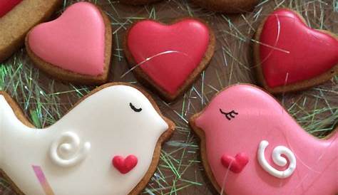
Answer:
POLYGON ((138 80, 170 101, 207 68, 215 36, 206 23, 192 18, 170 25, 144 20, 129 28, 124 48, 138 80))

